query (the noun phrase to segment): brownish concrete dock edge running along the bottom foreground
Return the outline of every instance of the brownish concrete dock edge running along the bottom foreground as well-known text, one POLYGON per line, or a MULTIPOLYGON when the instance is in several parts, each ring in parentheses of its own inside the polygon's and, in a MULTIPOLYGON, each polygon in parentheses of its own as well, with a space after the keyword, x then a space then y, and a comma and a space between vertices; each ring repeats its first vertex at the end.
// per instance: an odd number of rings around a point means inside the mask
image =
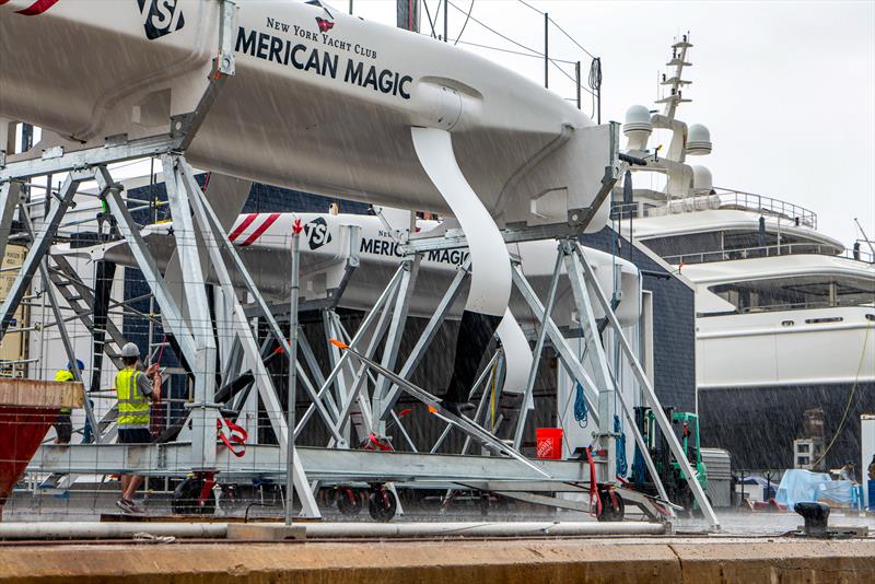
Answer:
POLYGON ((593 537, 291 542, 20 542, 0 582, 875 582, 875 540, 593 537))

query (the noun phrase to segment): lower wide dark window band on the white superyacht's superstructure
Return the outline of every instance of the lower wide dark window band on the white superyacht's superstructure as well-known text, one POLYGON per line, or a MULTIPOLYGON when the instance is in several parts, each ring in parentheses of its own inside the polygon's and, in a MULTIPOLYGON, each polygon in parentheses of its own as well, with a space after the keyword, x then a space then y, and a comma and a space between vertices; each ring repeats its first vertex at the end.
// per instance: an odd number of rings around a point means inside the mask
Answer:
POLYGON ((709 290, 739 313, 875 305, 875 281, 853 277, 773 278, 718 284, 709 290))

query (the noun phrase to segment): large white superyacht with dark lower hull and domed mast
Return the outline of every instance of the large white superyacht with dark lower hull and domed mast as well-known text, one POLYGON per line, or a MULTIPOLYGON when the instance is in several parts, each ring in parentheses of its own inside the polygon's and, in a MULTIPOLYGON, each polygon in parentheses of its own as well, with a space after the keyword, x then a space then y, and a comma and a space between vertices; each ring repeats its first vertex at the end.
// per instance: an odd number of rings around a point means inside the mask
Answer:
POLYGON ((875 410, 872 248, 845 249, 817 231, 814 211, 715 187, 707 167, 687 163, 712 150, 704 126, 676 116, 690 101, 681 75, 691 46, 684 37, 672 48, 661 109, 632 106, 623 126, 626 153, 645 162, 627 179, 657 173, 665 186, 618 189, 614 217, 696 287, 703 444, 751 470, 858 460, 860 414, 875 410), (670 132, 667 151, 649 148, 654 129, 670 132), (805 418, 821 414, 820 442, 794 456, 794 440, 809 437, 805 418))

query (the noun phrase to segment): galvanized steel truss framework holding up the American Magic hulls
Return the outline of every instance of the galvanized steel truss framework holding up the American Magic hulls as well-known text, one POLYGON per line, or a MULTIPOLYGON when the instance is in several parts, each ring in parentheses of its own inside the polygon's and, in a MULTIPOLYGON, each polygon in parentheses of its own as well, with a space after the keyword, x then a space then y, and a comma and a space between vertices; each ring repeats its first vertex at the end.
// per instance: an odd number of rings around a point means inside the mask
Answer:
MULTIPOLYGON (((602 189, 595 197, 592 207, 585 210, 570 211, 568 223, 547 227, 510 229, 503 233, 508 242, 540 238, 557 238, 558 241, 557 261, 546 305, 538 299, 518 262, 512 266, 513 284, 528 303, 538 323, 535 359, 525 388, 521 414, 513 429, 512 444, 499 440, 492 428, 486 429, 480 425, 479 420, 486 392, 481 397, 477 414, 474 419, 469 419, 442 409, 438 397, 408 381, 420 364, 440 327, 446 320, 454 302, 458 299, 463 283, 470 275, 469 261, 458 267, 453 281, 413 350, 400 369, 397 369, 399 347, 407 324, 410 300, 415 293, 421 254, 433 249, 465 247, 465 238, 455 235, 407 242, 407 245, 404 246, 405 257, 398 270, 351 338, 334 312, 339 294, 342 294, 341 287, 337 296, 331 299, 332 302, 324 307, 323 318, 328 339, 347 340, 331 350, 332 369, 322 379, 318 378, 322 376, 322 372, 318 371, 308 341, 305 337, 300 337, 303 339, 300 352, 304 357, 304 362, 308 363, 314 376, 317 376, 319 385, 317 389, 304 372, 301 360, 296 359, 298 376, 310 396, 311 405, 294 429, 287 427, 277 388, 264 363, 262 353, 266 343, 259 343, 256 335, 257 327, 253 326, 250 316, 257 316, 267 325, 268 338, 276 340, 287 351, 287 354, 290 351, 289 341, 255 285, 236 248, 229 241, 228 233, 222 227, 205 192, 195 180, 194 171, 185 159, 185 149, 209 110, 217 92, 220 91, 224 80, 234 72, 231 47, 231 31, 234 30, 232 23, 235 17, 234 5, 231 2, 222 4, 222 34, 220 34, 220 51, 215 60, 214 74, 211 75, 209 87, 196 110, 172 120, 171 133, 137 140, 116 138, 102 148, 70 153, 51 152, 39 159, 8 162, 4 166, 0 166, 0 257, 8 241, 13 211, 19 203, 19 194, 23 183, 36 176, 69 173, 58 197, 51 200, 45 221, 38 229, 33 230, 33 244, 9 295, 0 304, 0 338, 8 328, 14 311, 37 269, 45 269, 44 261, 49 247, 79 186, 83 182, 95 180, 98 185, 101 200, 108 206, 109 213, 117 221, 118 232, 127 242, 137 266, 145 277, 161 309, 165 329, 175 338, 182 357, 195 375, 195 399, 190 405, 188 417, 191 423, 190 441, 183 440, 144 446, 103 444, 101 442, 105 434, 101 431, 101 425, 93 419, 93 412, 86 410, 92 428, 97 434, 98 443, 44 445, 28 468, 36 472, 56 474, 133 471, 152 476, 184 476, 191 471, 198 471, 220 472, 232 479, 252 476, 279 477, 284 476, 288 471, 284 466, 285 445, 289 442, 288 433, 292 431, 293 436, 298 436, 305 424, 316 414, 328 429, 330 441, 326 448, 296 448, 298 455, 294 457, 294 468, 292 469, 295 492, 302 501, 302 515, 304 516, 320 516, 313 493, 316 484, 311 482, 313 480, 323 483, 359 481, 412 486, 438 484, 442 488, 508 493, 509 497, 555 506, 582 509, 582 505, 575 505, 573 502, 558 501, 538 493, 590 492, 595 486, 592 484, 591 477, 587 475, 588 468, 584 462, 529 460, 520 453, 526 423, 526 405, 534 390, 540 353, 549 339, 559 354, 562 366, 569 371, 576 383, 585 388, 592 420, 597 429, 594 432, 593 448, 593 468, 596 474, 597 487, 616 489, 622 493, 623 498, 642 506, 646 513, 654 515, 664 513, 670 516, 673 515, 672 506, 668 504, 665 489, 650 459, 643 437, 634 423, 631 408, 623 400, 621 392, 614 382, 590 301, 592 292, 607 315, 609 327, 620 342, 622 352, 632 367, 648 404, 656 414, 656 421, 680 464, 684 475, 691 479, 688 482, 696 501, 705 512, 712 526, 719 527, 718 519, 698 480, 695 479, 696 475, 663 412, 655 392, 623 337, 612 306, 606 300, 585 260, 584 252, 576 242, 576 235, 588 223, 590 218, 594 215, 595 210, 616 183, 618 176, 618 166, 616 165, 606 168, 602 189), (177 299, 168 287, 168 282, 165 281, 165 276, 161 273, 155 258, 140 233, 140 226, 131 217, 127 201, 122 197, 122 187, 113 178, 108 167, 113 163, 152 156, 161 157, 164 167, 168 207, 174 221, 173 237, 182 265, 182 284, 185 291, 182 301, 177 299), (206 258, 202 258, 199 253, 200 242, 206 248, 206 258), (551 316, 557 282, 563 268, 572 284, 587 353, 593 359, 594 377, 587 374, 551 316), (241 457, 231 456, 228 449, 217 452, 217 421, 220 418, 219 410, 223 405, 215 402, 214 373, 218 364, 217 353, 221 348, 217 346, 213 335, 213 318, 208 309, 206 292, 208 273, 212 273, 218 280, 218 289, 221 290, 223 299, 222 318, 225 323, 231 323, 229 338, 220 339, 220 343, 231 343, 230 354, 234 355, 234 359, 229 360, 230 362, 221 367, 225 375, 223 378, 231 378, 234 376, 233 374, 245 371, 253 372, 258 398, 265 405, 279 444, 278 446, 250 444, 241 457), (242 288, 250 299, 248 314, 234 288, 232 273, 242 280, 242 288), (383 351, 377 359, 376 351, 381 344, 383 351), (397 373, 395 373, 396 370, 397 373), (369 387, 372 388, 370 399, 369 387), (404 427, 394 411, 394 406, 402 392, 429 405, 436 413, 435 419, 443 420, 447 424, 447 430, 441 434, 439 443, 444 440, 451 427, 466 434, 467 439, 462 455, 434 454, 433 451, 436 451, 439 445, 432 447, 432 452, 428 454, 350 449, 349 434, 350 429, 354 425, 351 420, 353 413, 362 421, 362 433, 368 435, 373 433, 377 439, 385 437, 387 421, 394 420, 402 435, 406 436, 408 444, 416 449, 412 440, 404 431, 404 427), (621 406, 619 413, 615 411, 615 402, 621 406), (657 483, 658 498, 634 493, 617 480, 617 434, 612 423, 615 416, 619 414, 625 416, 629 421, 651 476, 657 483), (493 455, 467 454, 470 441, 486 446, 493 455)), ((616 132, 616 128, 614 131, 616 132)), ((348 270, 354 269, 355 265, 355 261, 350 261, 348 270)), ((348 278, 345 279, 345 282, 347 281, 349 281, 348 278)), ((63 331, 65 320, 60 317, 57 299, 52 295, 49 296, 49 300, 56 312, 58 327, 63 331)), ((62 337, 63 335, 65 332, 62 332, 62 337)), ((65 348, 68 357, 73 360, 74 355, 69 346, 69 339, 65 341, 65 348)), ((493 360, 500 361, 500 357, 494 357, 493 360)), ((472 395, 483 378, 481 376, 480 382, 471 388, 472 395)), ((89 404, 88 399, 85 399, 85 404, 89 404)), ((361 440, 362 435, 360 434, 358 437, 361 440)))

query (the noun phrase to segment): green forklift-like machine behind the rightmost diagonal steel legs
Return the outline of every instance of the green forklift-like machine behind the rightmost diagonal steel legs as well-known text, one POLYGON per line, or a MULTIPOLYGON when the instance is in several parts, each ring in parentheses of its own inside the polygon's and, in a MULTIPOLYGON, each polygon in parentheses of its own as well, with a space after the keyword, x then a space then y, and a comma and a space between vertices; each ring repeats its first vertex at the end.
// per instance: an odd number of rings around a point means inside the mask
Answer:
MULTIPOLYGON (((674 408, 670 407, 665 408, 665 414, 672 420, 672 427, 680 441, 684 453, 690 466, 696 469, 697 480, 702 486, 705 494, 708 494, 708 469, 702 463, 702 451, 699 443, 699 417, 688 411, 674 411, 674 408)), ((698 504, 696 504, 692 491, 687 484, 687 478, 680 470, 680 464, 672 455, 668 448, 668 441, 660 431, 653 411, 646 407, 635 408, 635 423, 641 430, 650 451, 650 456, 656 467, 656 472, 660 475, 663 486, 665 486, 668 499, 673 503, 684 506, 688 512, 697 512, 698 504)), ((635 447, 631 481, 645 492, 651 494, 656 494, 657 492, 653 479, 648 475, 638 447, 635 447)))

